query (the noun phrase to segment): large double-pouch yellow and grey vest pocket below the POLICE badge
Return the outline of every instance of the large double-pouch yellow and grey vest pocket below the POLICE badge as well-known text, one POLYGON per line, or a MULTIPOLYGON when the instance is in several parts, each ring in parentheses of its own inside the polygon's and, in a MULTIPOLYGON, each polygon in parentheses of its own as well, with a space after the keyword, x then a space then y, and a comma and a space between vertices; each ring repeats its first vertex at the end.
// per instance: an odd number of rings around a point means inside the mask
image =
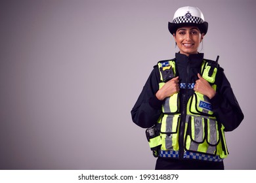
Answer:
POLYGON ((216 120, 200 116, 188 118, 185 150, 216 155, 219 141, 220 134, 216 120))

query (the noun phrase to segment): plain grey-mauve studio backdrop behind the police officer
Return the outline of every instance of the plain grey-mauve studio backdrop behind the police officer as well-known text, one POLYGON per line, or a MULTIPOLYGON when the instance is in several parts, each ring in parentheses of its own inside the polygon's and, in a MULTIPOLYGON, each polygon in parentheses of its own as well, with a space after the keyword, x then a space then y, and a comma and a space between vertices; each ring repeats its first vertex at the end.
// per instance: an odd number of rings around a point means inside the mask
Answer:
MULTIPOLYGON (((226 133, 226 169, 256 169, 256 1, 0 3, 0 168, 154 169, 135 104, 152 67, 174 58, 175 10, 199 7, 245 119, 226 133)), ((200 48, 201 49, 201 48, 200 48)))

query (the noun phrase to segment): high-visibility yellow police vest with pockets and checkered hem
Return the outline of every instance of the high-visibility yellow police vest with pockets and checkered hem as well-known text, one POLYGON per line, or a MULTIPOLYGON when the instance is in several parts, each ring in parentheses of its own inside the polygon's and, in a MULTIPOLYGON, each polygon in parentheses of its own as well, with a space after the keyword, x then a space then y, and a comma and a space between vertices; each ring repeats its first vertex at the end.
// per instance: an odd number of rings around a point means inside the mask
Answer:
MULTIPOLYGON (((177 76, 174 60, 158 62, 158 69, 161 80, 159 88, 177 76)), ((201 75, 215 91, 217 71, 218 64, 215 61, 203 59, 201 75)), ((192 90, 194 84, 181 83, 180 88, 192 90)), ((184 105, 185 110, 181 112, 179 95, 178 92, 165 98, 157 124, 146 130, 154 156, 223 161, 228 156, 224 126, 217 121, 209 99, 201 93, 193 92, 184 105)))

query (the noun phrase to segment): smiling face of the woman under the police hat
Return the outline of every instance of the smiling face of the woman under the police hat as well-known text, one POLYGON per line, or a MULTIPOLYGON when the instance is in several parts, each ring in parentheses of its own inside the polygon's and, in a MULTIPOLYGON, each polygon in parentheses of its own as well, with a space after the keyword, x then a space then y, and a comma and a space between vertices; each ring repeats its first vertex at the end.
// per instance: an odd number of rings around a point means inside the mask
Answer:
POLYGON ((181 54, 189 56, 190 54, 197 54, 198 47, 202 41, 204 33, 196 26, 180 27, 177 29, 176 34, 173 34, 175 42, 180 49, 181 54))

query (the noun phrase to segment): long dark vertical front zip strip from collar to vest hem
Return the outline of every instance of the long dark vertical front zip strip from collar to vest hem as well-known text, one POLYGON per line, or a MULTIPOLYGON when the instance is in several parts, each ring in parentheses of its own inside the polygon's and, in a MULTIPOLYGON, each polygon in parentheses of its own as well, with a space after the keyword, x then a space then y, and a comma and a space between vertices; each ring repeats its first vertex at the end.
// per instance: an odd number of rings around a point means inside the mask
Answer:
POLYGON ((179 128, 179 159, 184 158, 184 133, 185 133, 185 124, 186 124, 186 107, 187 107, 187 97, 188 97, 188 78, 190 75, 190 63, 189 58, 186 63, 186 89, 185 93, 182 94, 182 113, 181 113, 181 124, 179 128))

